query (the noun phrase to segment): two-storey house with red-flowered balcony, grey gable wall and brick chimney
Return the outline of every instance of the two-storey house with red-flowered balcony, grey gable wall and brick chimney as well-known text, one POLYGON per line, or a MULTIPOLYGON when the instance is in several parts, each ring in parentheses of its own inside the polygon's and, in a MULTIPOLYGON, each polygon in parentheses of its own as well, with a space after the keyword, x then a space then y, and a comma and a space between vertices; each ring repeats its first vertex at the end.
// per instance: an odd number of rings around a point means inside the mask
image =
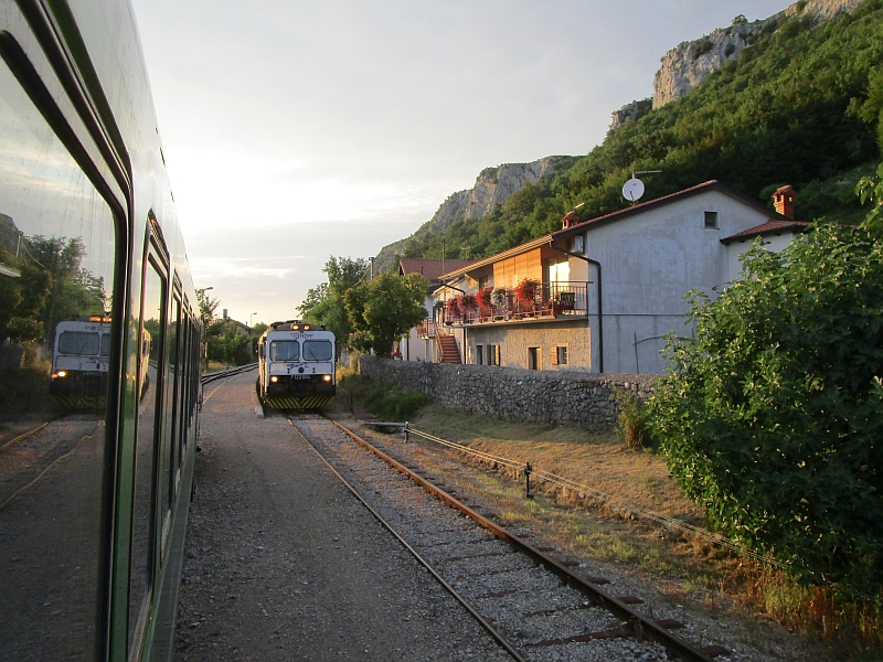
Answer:
POLYGON ((585 222, 571 212, 558 232, 448 271, 435 298, 507 291, 502 306, 445 317, 467 363, 659 374, 664 337, 692 334, 688 291, 714 297, 754 237, 779 250, 808 227, 795 193, 779 189, 773 212, 710 181, 585 222), (525 278, 538 284, 530 300, 513 296, 525 278))

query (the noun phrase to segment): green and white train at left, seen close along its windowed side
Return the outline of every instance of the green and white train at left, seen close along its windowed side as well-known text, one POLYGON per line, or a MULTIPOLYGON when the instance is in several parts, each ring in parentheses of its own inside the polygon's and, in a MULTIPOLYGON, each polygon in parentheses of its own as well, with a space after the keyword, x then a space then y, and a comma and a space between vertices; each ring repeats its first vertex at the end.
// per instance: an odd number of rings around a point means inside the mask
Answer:
POLYGON ((0 659, 168 661, 204 342, 134 9, 0 23, 0 659))

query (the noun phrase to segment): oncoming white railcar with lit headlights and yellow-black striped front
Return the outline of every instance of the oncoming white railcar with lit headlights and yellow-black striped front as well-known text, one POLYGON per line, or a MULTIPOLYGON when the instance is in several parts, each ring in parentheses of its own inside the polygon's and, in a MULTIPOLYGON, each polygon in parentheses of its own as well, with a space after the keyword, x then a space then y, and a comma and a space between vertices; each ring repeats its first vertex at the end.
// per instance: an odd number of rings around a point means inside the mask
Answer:
POLYGON ((310 412, 334 397, 334 334, 301 320, 274 322, 257 341, 260 401, 274 409, 310 412))

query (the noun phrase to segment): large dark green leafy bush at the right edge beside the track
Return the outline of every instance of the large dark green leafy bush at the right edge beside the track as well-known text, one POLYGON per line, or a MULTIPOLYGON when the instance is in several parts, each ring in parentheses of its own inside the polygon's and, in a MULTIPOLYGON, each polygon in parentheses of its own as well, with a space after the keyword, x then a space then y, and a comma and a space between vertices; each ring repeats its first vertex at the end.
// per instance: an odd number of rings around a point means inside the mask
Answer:
MULTIPOLYGON (((728 535, 805 581, 883 583, 883 244, 819 225, 748 253, 670 343, 650 429, 728 535)), ((872 589, 875 592, 875 589, 872 589)))

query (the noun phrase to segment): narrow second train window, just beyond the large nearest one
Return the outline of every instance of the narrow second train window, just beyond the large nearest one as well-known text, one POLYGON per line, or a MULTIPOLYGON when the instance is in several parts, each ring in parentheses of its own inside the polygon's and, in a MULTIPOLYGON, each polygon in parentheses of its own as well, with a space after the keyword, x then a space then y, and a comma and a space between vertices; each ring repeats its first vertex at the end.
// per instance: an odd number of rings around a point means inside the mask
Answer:
MULTIPOLYGON (((166 278, 152 259, 143 280, 141 320, 145 339, 149 338, 147 361, 141 361, 141 388, 138 406, 138 436, 135 445, 135 488, 132 506, 131 564, 129 579, 129 648, 137 645, 147 623, 153 587, 156 559, 156 487, 153 468, 157 463, 159 428, 157 417, 162 410, 163 325, 166 323, 166 278)), ((142 343, 143 344, 143 343, 142 343)))

